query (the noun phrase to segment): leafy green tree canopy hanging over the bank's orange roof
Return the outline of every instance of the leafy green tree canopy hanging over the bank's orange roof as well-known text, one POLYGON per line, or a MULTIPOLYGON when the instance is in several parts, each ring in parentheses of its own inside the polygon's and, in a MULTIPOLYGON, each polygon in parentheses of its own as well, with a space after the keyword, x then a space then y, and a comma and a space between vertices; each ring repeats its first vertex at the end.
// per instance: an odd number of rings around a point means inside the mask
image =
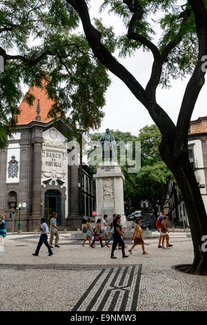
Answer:
MULTIPOLYGON (((49 117, 61 114, 73 132, 99 127, 110 84, 106 68, 93 55, 86 37, 74 32, 79 17, 66 1, 0 1, 0 149, 16 130, 23 84, 46 88, 55 104, 49 117)), ((101 24, 97 21, 97 25, 101 24)), ((112 31, 107 29, 108 40, 112 31)), ((24 100, 32 105, 34 97, 24 100)))

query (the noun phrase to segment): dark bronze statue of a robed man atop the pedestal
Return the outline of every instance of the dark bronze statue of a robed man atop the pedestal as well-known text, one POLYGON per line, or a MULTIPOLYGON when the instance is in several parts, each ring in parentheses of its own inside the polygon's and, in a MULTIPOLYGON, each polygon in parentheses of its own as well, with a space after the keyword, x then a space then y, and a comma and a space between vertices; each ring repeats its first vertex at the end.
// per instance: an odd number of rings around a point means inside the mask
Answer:
POLYGON ((101 136, 99 142, 102 146, 102 159, 110 160, 115 156, 115 137, 110 133, 110 129, 106 129, 106 133, 101 136))

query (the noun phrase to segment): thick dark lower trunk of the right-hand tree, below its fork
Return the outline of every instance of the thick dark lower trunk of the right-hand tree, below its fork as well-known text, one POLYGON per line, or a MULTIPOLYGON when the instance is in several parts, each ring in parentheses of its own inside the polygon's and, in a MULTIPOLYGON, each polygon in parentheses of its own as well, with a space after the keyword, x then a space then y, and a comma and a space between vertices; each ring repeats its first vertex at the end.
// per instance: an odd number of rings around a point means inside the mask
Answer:
POLYGON ((179 269, 194 275, 207 275, 207 252, 201 250, 202 236, 207 235, 207 216, 204 202, 193 168, 188 159, 188 153, 183 153, 178 159, 172 156, 172 141, 162 140, 159 146, 161 158, 174 174, 181 194, 184 198, 190 230, 194 246, 194 261, 191 266, 180 266, 179 269))

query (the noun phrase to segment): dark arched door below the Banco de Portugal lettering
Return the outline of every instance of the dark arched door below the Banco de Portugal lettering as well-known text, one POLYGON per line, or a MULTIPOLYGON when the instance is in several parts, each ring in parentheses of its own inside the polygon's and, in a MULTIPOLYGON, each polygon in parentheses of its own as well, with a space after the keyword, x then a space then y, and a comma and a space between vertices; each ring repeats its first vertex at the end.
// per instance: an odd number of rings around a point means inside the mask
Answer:
POLYGON ((55 189, 50 189, 45 194, 45 218, 48 225, 53 212, 57 212, 57 225, 61 225, 61 194, 55 189))

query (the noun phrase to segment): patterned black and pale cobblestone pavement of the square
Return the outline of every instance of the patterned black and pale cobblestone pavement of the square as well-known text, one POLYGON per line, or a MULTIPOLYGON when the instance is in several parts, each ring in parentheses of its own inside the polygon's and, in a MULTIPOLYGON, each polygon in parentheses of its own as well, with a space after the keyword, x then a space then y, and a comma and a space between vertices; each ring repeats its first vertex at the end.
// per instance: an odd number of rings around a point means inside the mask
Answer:
POLYGON ((82 247, 65 233, 51 257, 44 245, 34 257, 38 241, 37 234, 6 237, 0 252, 0 310, 207 311, 207 277, 173 268, 193 261, 189 234, 170 234, 170 250, 158 249, 157 239, 145 239, 148 255, 137 246, 127 259, 116 250, 115 260, 110 248, 82 247))

